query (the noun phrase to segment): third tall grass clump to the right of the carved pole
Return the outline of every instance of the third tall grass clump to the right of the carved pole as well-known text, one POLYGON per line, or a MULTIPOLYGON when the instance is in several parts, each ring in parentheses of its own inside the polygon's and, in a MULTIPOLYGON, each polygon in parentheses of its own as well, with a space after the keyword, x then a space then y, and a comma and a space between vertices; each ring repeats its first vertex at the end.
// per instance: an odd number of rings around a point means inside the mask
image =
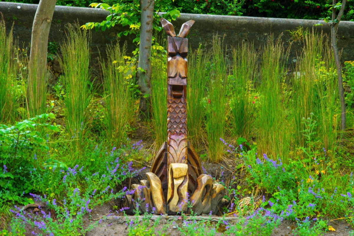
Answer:
POLYGON ((258 53, 251 44, 242 44, 233 49, 233 75, 229 81, 233 98, 230 102, 232 132, 249 139, 253 122, 253 107, 250 96, 258 72, 258 53))

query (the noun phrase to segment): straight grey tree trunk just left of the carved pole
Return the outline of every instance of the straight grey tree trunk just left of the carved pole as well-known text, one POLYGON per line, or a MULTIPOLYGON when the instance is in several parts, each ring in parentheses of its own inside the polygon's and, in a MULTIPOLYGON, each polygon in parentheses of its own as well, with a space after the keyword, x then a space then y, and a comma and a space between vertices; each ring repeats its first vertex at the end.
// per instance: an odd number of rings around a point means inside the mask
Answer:
POLYGON ((151 43, 153 34, 154 0, 140 0, 141 26, 138 81, 142 92, 140 99, 140 110, 145 117, 148 117, 148 101, 150 100, 150 77, 151 77, 151 43))

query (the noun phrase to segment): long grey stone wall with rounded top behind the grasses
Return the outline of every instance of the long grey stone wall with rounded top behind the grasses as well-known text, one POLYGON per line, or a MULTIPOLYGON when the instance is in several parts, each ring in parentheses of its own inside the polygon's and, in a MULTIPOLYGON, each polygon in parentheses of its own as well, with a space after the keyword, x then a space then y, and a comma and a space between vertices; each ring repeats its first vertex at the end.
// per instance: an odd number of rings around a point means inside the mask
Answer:
MULTIPOLYGON (((31 39, 31 28, 37 5, 19 4, 11 2, 0 2, 0 12, 4 15, 7 29, 14 25, 14 36, 21 45, 28 46, 31 39)), ((53 22, 49 34, 48 41, 55 41, 59 45, 66 38, 65 28, 68 23, 79 25, 86 22, 101 22, 108 15, 107 11, 95 8, 80 8, 56 6, 53 15, 53 22)), ((302 26, 304 29, 313 28, 315 31, 322 31, 329 34, 329 27, 313 26, 319 23, 319 20, 301 20, 301 19, 280 19, 280 18, 258 18, 258 17, 240 17, 240 16, 216 16, 216 15, 195 15, 181 14, 181 17, 173 22, 178 32, 181 25, 194 19, 195 24, 192 26, 189 34, 190 50, 198 48, 199 44, 203 44, 206 48, 211 47, 213 35, 218 34, 224 37, 224 44, 227 45, 228 52, 233 46, 242 42, 253 42, 255 48, 264 45, 270 34, 275 38, 281 36, 284 47, 288 48, 291 44, 290 57, 288 66, 296 62, 296 55, 301 52, 301 43, 293 41, 288 30, 296 30, 302 26)), ((324 22, 322 22, 324 23, 324 22)), ((324 23, 325 25, 325 23, 324 23)), ((122 31, 120 25, 116 25, 112 29, 102 31, 92 30, 92 53, 91 67, 93 76, 100 80, 100 72, 98 65, 99 51, 101 56, 105 57, 105 48, 107 44, 116 40, 116 34, 122 31)), ((166 37, 165 34, 162 34, 166 37)), ((127 51, 132 52, 136 46, 132 44, 134 36, 122 37, 120 44, 127 42, 127 51)), ((342 49, 342 62, 354 60, 354 22, 341 22, 338 27, 338 47, 342 49)), ((57 74, 60 72, 58 65, 55 65, 57 74)))

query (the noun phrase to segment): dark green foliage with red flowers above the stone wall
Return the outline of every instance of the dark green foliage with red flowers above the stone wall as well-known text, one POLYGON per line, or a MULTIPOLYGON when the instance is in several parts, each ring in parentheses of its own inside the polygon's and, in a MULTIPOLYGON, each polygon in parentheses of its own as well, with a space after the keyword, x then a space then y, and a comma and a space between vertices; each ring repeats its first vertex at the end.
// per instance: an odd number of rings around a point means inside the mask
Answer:
MULTIPOLYGON (((38 4, 39 0, 5 0, 11 2, 24 2, 38 4)), ((121 0, 120 0, 121 1, 121 0)), ((87 7, 95 2, 94 0, 57 0, 57 5, 87 7)), ((118 0, 96 1, 112 6, 118 0)), ((354 20, 353 0, 348 0, 343 15, 344 21, 354 20)), ((232 15, 232 16, 253 16, 253 17, 275 17, 313 19, 325 18, 332 14, 330 7, 332 1, 326 0, 178 0, 167 1, 166 5, 176 7, 182 13, 232 15)), ((339 2, 339 4, 341 4, 339 2)), ((163 11, 160 11, 163 12, 163 11)))

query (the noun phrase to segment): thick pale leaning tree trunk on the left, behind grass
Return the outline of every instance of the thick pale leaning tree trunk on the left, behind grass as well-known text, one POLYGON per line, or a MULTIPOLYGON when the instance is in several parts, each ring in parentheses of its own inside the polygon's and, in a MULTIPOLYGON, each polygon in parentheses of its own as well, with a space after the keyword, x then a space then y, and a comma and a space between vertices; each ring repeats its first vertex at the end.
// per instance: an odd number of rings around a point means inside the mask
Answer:
POLYGON ((41 110, 40 106, 45 103, 43 99, 46 95, 44 84, 48 35, 56 2, 56 0, 40 0, 33 20, 27 87, 27 107, 30 116, 39 115, 33 113, 41 110))

